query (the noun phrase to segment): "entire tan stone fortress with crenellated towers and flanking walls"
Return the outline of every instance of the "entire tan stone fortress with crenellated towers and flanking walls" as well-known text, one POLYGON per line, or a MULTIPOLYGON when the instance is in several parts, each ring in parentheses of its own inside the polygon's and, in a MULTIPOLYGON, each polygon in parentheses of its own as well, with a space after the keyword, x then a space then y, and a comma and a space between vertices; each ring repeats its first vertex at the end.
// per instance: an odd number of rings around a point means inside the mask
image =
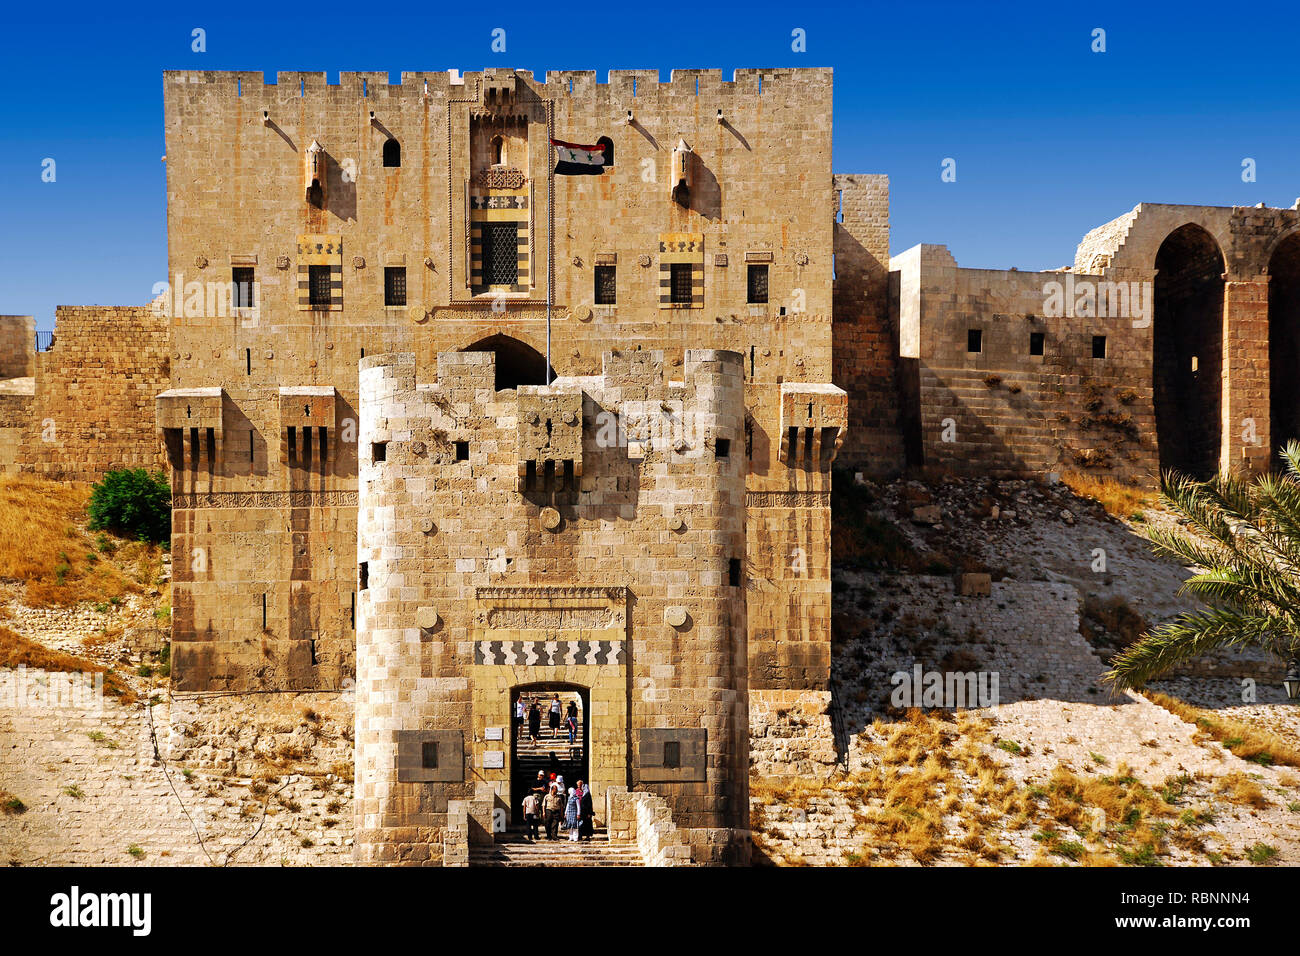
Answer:
POLYGON ((174 688, 355 688, 363 862, 517 816, 512 701, 560 688, 611 830, 744 862, 751 734, 835 757, 832 468, 1140 480, 1300 436, 1295 208, 963 269, 889 256, 827 69, 164 94, 169 284, 35 354, 0 316, 0 470, 170 470, 174 688))

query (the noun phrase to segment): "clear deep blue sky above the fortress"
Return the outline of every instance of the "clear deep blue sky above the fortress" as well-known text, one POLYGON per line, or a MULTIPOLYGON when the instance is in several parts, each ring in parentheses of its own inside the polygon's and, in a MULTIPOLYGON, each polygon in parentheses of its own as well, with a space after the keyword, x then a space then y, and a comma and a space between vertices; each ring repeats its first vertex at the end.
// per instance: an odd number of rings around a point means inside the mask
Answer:
POLYGON ((1300 196, 1295 4, 21 4, 0 34, 0 312, 165 278, 164 69, 832 66, 835 170, 888 173, 893 251, 1053 268, 1139 202, 1300 196), (290 9, 292 8, 292 9, 290 9), (311 10, 308 23, 295 9, 311 10), (673 10, 688 16, 675 17, 673 10), (489 12, 490 10, 490 12, 489 12), (511 12, 517 10, 517 12, 511 12), (1239 13, 1238 13, 1239 12, 1239 13), (191 30, 207 52, 191 51, 191 30), (490 51, 503 27, 507 51, 490 51), (796 27, 807 51, 790 47, 796 27), (1106 31, 1106 52, 1091 51, 1106 31), (57 163, 42 182, 42 161, 57 163), (957 181, 940 179, 945 157, 957 181), (1242 161, 1257 181, 1242 181, 1242 161))

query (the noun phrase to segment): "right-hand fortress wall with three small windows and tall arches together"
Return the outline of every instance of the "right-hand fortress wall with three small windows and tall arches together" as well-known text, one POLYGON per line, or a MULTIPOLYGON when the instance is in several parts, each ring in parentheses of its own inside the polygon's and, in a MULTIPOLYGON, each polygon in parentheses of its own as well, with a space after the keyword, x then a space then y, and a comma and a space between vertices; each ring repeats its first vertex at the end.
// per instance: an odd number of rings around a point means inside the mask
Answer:
POLYGON ((1089 232, 1071 272, 959 269, 941 246, 894 256, 902 363, 916 364, 904 401, 918 405, 924 460, 1128 480, 1269 467, 1300 437, 1297 234, 1300 208, 1143 203, 1089 232), (1049 282, 1072 313, 1049 313, 1049 282), (1102 311, 1100 290, 1115 284, 1143 310, 1102 311), (1093 312, 1076 300, 1086 286, 1093 312), (1093 336, 1106 337, 1104 358, 1093 336))

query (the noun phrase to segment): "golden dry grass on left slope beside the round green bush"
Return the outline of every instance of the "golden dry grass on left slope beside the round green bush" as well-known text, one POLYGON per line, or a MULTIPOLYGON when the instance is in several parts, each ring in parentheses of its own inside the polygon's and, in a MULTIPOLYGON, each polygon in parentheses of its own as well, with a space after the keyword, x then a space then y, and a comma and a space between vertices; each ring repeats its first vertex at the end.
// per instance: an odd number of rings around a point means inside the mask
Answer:
POLYGON ((157 580, 161 548, 88 531, 88 501, 84 484, 0 476, 0 580, 27 606, 108 602, 157 580))

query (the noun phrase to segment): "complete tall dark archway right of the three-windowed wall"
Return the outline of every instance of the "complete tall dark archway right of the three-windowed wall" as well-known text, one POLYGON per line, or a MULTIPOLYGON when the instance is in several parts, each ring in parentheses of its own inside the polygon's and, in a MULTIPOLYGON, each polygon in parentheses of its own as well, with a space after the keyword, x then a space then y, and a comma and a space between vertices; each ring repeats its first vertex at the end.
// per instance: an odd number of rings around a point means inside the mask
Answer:
POLYGON ((1152 373, 1160 467, 1206 479, 1219 468, 1223 401, 1223 254, 1201 226, 1156 254, 1152 373))

